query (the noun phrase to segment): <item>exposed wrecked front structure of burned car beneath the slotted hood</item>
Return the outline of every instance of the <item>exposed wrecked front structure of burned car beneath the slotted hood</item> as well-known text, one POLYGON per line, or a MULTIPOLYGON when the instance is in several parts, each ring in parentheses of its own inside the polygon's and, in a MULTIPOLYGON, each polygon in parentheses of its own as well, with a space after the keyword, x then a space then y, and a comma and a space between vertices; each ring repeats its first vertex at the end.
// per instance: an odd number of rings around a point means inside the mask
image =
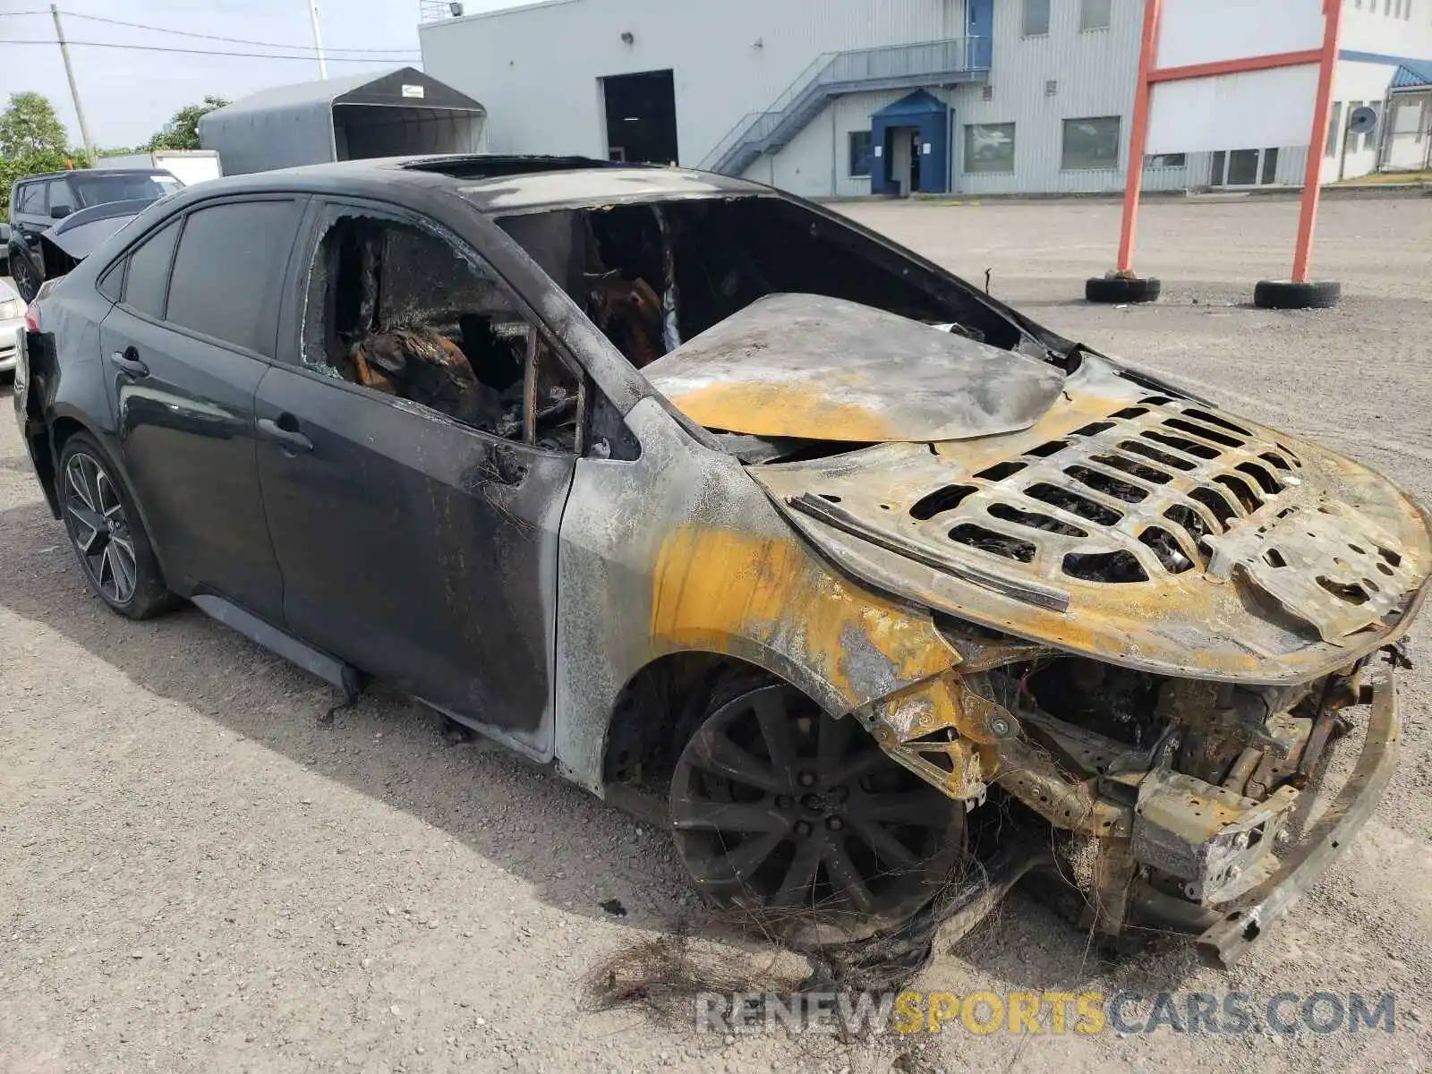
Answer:
MULTIPOLYGON (((906 740, 896 759, 937 763, 947 782, 965 760, 990 775, 962 788, 971 806, 994 795, 1048 821, 1058 872, 1106 938, 1189 932, 1232 962, 1257 938, 1264 904, 1300 894, 1299 866, 1335 852, 1370 811, 1359 795, 1390 775, 1399 725, 1390 669, 1375 656, 1257 687, 1071 657, 954 620, 942 629, 967 656, 965 712, 982 712, 984 727, 906 740), (1330 748, 1356 727, 1345 710, 1366 703, 1362 760, 1327 802, 1330 748)), ((1405 664, 1395 646, 1386 659, 1405 664)), ((881 720, 871 726, 891 742, 881 720)))

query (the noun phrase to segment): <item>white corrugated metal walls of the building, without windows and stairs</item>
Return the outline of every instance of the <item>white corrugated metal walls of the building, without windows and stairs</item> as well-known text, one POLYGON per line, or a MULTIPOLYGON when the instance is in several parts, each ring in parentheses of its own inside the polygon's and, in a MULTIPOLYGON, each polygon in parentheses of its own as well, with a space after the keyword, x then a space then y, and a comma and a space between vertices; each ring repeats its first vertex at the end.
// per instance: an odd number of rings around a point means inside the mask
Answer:
MULTIPOLYGON (((1053 0, 1050 32, 1038 37, 1022 36, 1022 7, 1024 0, 994 0, 987 86, 929 87, 954 107, 952 192, 1121 190, 1144 0, 1111 0, 1111 24, 1101 30, 1080 30, 1080 0, 1053 0), (1118 166, 1063 169, 1064 120, 1103 116, 1120 117, 1118 166), (1012 172, 964 170, 971 123, 1014 123, 1012 172)), ((1398 52, 1398 34, 1419 29, 1360 16, 1362 49, 1398 52)), ((493 152, 604 156, 600 79, 672 69, 680 162, 690 166, 748 112, 769 107, 821 53, 959 37, 964 27, 965 0, 548 0, 450 19, 421 27, 420 36, 427 72, 488 107, 493 152)), ((1375 70, 1376 93, 1362 84, 1370 69, 1340 63, 1335 97, 1380 103, 1383 72, 1375 70)), ((868 130, 871 112, 904 93, 835 100, 790 145, 758 160, 749 178, 803 195, 868 193, 869 180, 849 175, 849 133, 868 130)), ((1372 166, 1372 145, 1349 153, 1349 176, 1372 166)), ((1204 186, 1210 159, 1190 155, 1184 168, 1146 169, 1144 188, 1204 186)), ((1300 183, 1303 160, 1305 146, 1280 147, 1276 180, 1300 183)))

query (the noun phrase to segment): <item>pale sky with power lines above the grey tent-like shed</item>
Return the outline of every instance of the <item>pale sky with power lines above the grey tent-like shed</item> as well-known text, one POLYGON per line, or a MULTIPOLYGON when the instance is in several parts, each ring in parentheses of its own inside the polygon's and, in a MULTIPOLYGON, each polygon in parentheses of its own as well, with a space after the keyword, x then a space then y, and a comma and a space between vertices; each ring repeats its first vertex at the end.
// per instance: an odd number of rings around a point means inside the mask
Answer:
MULTIPOLYGON (((309 82, 318 77, 318 60, 252 59, 241 56, 190 56, 185 53, 129 52, 74 44, 117 42, 179 49, 275 52, 246 44, 176 37, 95 23, 79 16, 99 16, 145 23, 189 33, 242 37, 252 42, 312 49, 308 0, 57 0, 70 44, 70 60, 80 103, 96 146, 132 146, 147 142, 185 105, 206 93, 242 97, 269 86, 309 82)), ((50 0, 0 0, 0 106, 11 93, 36 90, 54 105, 80 142, 79 123, 70 105, 60 49, 54 44, 50 0), (39 14, 27 14, 37 11, 39 14), (47 44, 11 44, 16 39, 43 39, 47 44)), ((516 6, 511 0, 468 0, 468 13, 516 6)), ((418 53, 418 0, 319 0, 319 29, 328 50, 329 77, 385 70, 411 64, 421 67, 418 53), (357 63, 341 49, 395 50, 357 63)))

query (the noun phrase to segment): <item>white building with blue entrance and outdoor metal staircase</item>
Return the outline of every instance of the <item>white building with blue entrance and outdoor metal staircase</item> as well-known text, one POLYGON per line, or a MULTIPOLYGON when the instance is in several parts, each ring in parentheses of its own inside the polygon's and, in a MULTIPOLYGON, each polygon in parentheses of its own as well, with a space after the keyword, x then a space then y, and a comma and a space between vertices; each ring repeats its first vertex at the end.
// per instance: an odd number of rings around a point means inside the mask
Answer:
MULTIPOLYGON (((1276 0, 1263 0, 1276 3, 1276 0)), ((1325 182, 1372 170, 1432 0, 1345 0, 1325 182), (1380 132, 1380 126, 1379 126, 1380 132)), ((424 69, 495 153, 679 162, 808 195, 1123 189, 1144 0, 504 0, 422 4, 424 69), (501 7, 457 14, 477 4, 501 7)), ((1425 130, 1429 117, 1400 116, 1425 130)), ((1151 158, 1146 189, 1300 183, 1302 146, 1151 158)))

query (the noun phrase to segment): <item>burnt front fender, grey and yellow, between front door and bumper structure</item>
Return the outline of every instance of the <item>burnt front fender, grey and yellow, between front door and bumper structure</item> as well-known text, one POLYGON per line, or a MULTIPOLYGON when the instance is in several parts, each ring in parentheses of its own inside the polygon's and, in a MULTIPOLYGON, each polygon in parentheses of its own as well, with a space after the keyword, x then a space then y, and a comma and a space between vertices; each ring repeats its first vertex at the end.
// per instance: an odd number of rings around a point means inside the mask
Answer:
POLYGON ((621 687, 669 653, 739 657, 833 716, 909 692, 944 706, 929 726, 954 723, 938 686, 959 656, 927 610, 832 571, 735 458, 693 448, 656 400, 626 422, 640 457, 579 460, 561 518, 557 756, 571 779, 603 793, 621 687))

